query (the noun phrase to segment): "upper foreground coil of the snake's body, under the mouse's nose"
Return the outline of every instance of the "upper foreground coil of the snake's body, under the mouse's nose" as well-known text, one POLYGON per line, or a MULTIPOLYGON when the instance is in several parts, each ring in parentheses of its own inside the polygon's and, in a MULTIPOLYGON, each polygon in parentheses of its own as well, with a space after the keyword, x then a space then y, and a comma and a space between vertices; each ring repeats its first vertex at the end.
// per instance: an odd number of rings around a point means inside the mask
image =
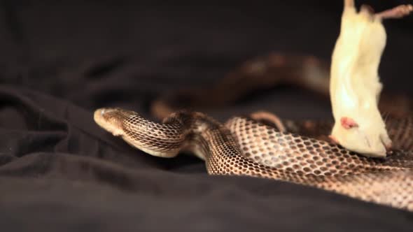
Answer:
POLYGON ((349 175, 413 168, 413 159, 406 158, 408 154, 397 153, 388 159, 360 157, 338 145, 274 131, 270 126, 243 117, 233 117, 225 125, 249 159, 265 166, 302 171, 304 175, 349 175), (256 131, 260 131, 260 136, 254 136, 256 131), (265 152, 258 152, 258 147, 265 152))

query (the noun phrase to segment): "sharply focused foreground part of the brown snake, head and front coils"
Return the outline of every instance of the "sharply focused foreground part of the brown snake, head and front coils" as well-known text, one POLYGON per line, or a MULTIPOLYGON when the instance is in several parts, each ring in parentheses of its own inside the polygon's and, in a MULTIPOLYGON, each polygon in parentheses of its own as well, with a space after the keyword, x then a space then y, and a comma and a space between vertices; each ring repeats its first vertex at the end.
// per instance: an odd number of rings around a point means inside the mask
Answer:
MULTIPOLYGON (((174 157, 181 150, 190 150, 204 159, 211 175, 294 182, 413 211, 413 162, 408 152, 369 159, 323 140, 276 131, 245 117, 233 117, 223 125, 202 113, 183 111, 155 123, 133 111, 104 108, 95 111, 94 120, 148 154, 174 157)), ((400 123, 406 122, 388 125, 400 123)))

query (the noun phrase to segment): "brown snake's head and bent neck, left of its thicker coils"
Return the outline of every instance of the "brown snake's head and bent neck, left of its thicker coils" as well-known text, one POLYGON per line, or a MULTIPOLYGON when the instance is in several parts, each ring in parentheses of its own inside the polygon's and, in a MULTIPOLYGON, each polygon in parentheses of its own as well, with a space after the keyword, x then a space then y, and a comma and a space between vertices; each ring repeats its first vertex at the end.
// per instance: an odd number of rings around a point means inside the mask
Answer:
POLYGON ((94 119, 106 131, 157 157, 176 157, 185 151, 212 166, 222 154, 241 154, 229 129, 203 113, 181 110, 157 123, 131 110, 104 108, 95 111, 94 119))

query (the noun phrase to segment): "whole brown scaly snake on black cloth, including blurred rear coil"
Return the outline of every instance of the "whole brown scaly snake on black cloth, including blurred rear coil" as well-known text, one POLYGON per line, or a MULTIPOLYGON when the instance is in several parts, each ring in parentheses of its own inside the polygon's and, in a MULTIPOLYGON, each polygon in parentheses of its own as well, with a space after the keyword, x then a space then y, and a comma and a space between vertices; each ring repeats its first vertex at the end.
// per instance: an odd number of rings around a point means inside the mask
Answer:
POLYGON ((154 156, 192 152, 204 159, 211 175, 271 178, 413 211, 413 154, 409 152, 413 118, 410 103, 402 96, 384 95, 379 103, 381 110, 388 111, 386 126, 394 149, 385 159, 363 157, 330 143, 326 135, 332 122, 328 121, 293 121, 255 113, 221 124, 195 110, 179 110, 225 106, 251 89, 281 83, 328 96, 327 67, 314 57, 272 54, 246 62, 211 89, 158 99, 152 112, 164 118, 160 123, 121 108, 97 109, 94 120, 154 156), (237 88, 229 93, 226 89, 231 86, 237 88))

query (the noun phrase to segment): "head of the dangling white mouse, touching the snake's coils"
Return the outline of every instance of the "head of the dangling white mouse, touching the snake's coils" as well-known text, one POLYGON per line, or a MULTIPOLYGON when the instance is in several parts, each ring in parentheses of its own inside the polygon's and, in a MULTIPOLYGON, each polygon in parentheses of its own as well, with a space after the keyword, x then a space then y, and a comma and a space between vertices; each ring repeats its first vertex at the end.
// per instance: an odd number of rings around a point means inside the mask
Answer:
POLYGON ((379 117, 340 117, 330 138, 347 149, 368 157, 386 157, 391 147, 386 126, 379 117))

